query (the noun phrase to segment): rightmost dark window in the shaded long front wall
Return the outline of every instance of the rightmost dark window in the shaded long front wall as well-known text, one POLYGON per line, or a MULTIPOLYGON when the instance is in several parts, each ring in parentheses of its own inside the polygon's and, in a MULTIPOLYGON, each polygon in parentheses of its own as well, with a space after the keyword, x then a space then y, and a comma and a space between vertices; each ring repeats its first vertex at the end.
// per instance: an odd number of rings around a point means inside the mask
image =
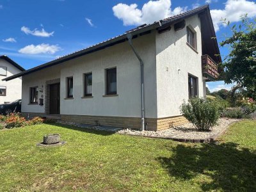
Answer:
POLYGON ((106 69, 106 95, 116 95, 116 68, 106 69))

